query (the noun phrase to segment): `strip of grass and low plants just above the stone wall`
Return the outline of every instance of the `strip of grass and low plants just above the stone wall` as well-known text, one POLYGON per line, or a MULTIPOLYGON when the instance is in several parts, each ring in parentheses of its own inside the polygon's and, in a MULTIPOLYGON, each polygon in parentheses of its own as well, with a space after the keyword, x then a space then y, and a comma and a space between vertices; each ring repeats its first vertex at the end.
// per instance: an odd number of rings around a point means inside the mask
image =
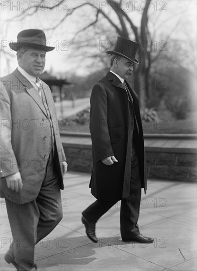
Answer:
MULTIPOLYGON (((144 134, 197 134, 197 112, 191 113, 186 120, 174 119, 169 111, 158 111, 159 121, 145 122, 142 120, 144 134)), ((89 122, 74 122, 75 116, 60 121, 60 130, 66 132, 89 133, 89 122)))

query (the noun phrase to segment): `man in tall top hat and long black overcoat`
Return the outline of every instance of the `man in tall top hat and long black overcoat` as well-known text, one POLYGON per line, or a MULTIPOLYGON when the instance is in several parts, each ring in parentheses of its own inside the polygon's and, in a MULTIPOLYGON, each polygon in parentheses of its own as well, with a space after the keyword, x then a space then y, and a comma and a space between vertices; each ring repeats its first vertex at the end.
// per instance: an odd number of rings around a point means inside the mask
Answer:
POLYGON ((93 172, 90 185, 97 199, 82 212, 87 236, 93 241, 95 225, 117 201, 121 200, 120 233, 123 241, 152 243, 140 234, 138 218, 141 188, 146 193, 146 161, 139 97, 127 79, 139 44, 117 37, 111 55, 111 70, 92 89, 90 133, 93 172))

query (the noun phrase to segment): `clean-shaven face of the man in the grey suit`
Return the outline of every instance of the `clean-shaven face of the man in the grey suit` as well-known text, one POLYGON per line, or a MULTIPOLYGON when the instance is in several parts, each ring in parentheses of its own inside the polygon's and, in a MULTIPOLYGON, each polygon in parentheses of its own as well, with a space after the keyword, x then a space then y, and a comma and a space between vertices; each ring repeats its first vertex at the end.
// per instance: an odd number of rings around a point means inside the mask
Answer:
POLYGON ((45 67, 46 51, 29 49, 24 54, 19 53, 19 66, 32 76, 39 76, 45 67))

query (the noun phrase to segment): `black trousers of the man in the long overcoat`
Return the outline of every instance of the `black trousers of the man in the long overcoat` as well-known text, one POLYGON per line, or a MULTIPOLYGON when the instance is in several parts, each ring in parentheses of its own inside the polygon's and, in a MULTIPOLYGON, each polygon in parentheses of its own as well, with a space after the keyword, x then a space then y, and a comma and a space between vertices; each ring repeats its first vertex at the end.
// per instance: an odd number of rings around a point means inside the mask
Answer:
MULTIPOLYGON (((110 167, 110 166, 109 166, 110 167)), ((130 198, 121 200, 120 207, 120 233, 121 237, 132 237, 140 234, 138 218, 141 202, 141 181, 139 174, 138 155, 135 149, 132 152, 130 198)), ((83 212, 83 216, 90 222, 96 223, 116 202, 99 201, 89 205, 83 212)))

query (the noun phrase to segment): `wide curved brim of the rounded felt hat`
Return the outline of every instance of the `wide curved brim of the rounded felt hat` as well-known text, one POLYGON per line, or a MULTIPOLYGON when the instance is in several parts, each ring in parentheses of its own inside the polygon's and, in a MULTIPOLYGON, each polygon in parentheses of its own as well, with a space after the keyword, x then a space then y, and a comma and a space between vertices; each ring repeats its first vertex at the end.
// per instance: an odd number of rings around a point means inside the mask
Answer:
POLYGON ((28 50, 31 48, 34 50, 43 50, 46 52, 50 52, 55 49, 55 47, 30 42, 10 42, 9 47, 16 52, 21 48, 23 48, 24 50, 28 50))

